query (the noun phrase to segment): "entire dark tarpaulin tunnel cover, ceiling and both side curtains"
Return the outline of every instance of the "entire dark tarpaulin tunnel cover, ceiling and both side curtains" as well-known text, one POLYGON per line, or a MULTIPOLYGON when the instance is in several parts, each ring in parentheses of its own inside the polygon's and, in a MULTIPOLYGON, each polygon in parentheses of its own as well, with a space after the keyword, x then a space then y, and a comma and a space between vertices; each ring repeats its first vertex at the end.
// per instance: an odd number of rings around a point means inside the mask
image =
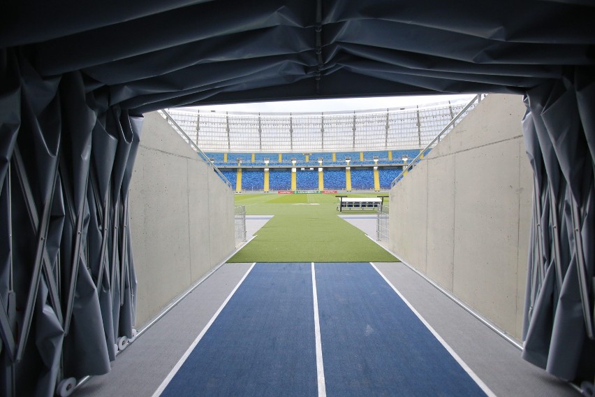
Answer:
POLYGON ((50 396, 68 377, 106 373, 111 346, 134 337, 126 225, 143 113, 436 93, 524 95, 541 219, 531 231, 526 358, 564 379, 592 375, 583 356, 595 338, 592 1, 2 8, 1 394, 50 396))

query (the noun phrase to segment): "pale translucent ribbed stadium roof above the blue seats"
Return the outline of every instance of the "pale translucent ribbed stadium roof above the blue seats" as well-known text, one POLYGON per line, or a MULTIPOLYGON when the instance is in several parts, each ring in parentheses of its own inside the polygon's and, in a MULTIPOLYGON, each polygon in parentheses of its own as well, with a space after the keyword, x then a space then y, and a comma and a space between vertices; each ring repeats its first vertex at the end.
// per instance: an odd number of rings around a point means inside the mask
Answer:
POLYGON ((421 149, 465 101, 324 113, 168 109, 188 140, 207 152, 341 152, 421 149))

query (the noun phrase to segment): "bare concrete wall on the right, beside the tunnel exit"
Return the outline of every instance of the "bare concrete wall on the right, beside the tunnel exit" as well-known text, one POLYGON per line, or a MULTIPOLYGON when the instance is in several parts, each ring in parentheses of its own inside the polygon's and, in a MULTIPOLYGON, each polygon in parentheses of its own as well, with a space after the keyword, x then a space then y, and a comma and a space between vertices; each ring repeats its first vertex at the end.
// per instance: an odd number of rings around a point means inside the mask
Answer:
POLYGON ((390 248, 519 340, 532 173, 520 96, 492 94, 390 191, 390 248))

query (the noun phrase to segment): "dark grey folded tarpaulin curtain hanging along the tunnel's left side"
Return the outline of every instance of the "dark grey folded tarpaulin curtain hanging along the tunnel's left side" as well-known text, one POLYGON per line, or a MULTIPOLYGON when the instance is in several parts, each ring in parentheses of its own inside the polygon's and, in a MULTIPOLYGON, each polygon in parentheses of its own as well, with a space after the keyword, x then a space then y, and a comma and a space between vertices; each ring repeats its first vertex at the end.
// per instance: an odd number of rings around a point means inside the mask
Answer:
POLYGON ((9 50, 0 65, 0 395, 52 396, 108 373, 133 338, 142 117, 86 92, 81 73, 43 78, 9 50))

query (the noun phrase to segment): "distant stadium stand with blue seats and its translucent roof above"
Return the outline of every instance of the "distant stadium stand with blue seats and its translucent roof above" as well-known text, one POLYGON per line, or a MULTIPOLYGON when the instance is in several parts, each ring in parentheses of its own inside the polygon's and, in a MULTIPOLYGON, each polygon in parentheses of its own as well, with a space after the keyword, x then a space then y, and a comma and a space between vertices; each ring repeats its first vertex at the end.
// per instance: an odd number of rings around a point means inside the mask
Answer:
MULTIPOLYGON (((351 186, 356 190, 378 190, 390 189, 391 175, 399 175, 404 165, 411 164, 454 115, 462 111, 464 117, 474 107, 464 110, 465 105, 443 102, 356 112, 200 115, 170 109, 170 116, 206 151, 216 167, 229 171, 225 175, 234 187, 237 169, 242 169, 242 190, 264 189, 264 168, 271 170, 271 191, 292 188, 288 168, 298 170, 294 189, 317 189, 318 175, 310 180, 300 173, 300 168, 314 168, 317 174, 318 167, 324 170, 325 189, 351 186), (346 175, 347 166, 351 167, 351 178, 346 175), (373 166, 378 166, 379 171, 376 185, 373 166)), ((446 129, 447 133, 450 129, 446 129)), ((431 147, 426 153, 429 150, 431 147)))

